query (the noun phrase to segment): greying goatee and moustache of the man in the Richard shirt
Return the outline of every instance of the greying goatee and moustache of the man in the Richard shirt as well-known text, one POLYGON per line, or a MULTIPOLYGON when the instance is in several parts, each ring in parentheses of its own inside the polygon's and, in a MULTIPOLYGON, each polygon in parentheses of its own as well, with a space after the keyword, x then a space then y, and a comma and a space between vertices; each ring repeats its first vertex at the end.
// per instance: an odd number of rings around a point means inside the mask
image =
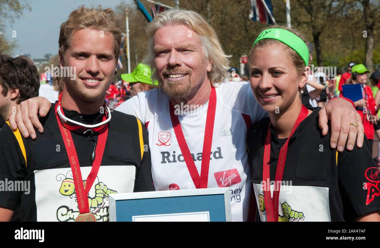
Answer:
POLYGON ((187 74, 187 78, 172 82, 169 81, 168 78, 164 78, 162 82, 160 82, 161 89, 169 96, 169 97, 181 97, 186 96, 190 93, 190 90, 192 89, 191 84, 191 78, 192 78, 192 72, 190 70, 177 72, 174 70, 164 70, 162 72, 165 73, 171 73, 171 74, 187 74))

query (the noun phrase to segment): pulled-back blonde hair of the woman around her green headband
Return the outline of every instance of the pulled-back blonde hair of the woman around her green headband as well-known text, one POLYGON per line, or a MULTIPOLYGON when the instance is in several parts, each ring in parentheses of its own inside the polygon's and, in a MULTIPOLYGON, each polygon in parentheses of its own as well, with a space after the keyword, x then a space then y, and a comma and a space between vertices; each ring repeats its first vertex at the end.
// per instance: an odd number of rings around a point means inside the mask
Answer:
MULTIPOLYGON (((301 31, 299 31, 298 29, 289 29, 288 27, 282 26, 282 25, 274 25, 274 26, 271 26, 270 28, 271 29, 285 29, 285 30, 288 30, 291 33, 294 33, 299 38, 301 38, 301 40, 304 41, 305 44, 307 45, 307 47, 309 48, 309 61, 312 61, 312 51, 310 51, 309 41, 306 40, 306 38, 301 33, 301 31)), ((268 27, 260 30, 258 33, 261 33, 261 32, 263 32, 266 29, 268 29, 268 27)), ((263 47, 269 46, 269 45, 276 45, 276 44, 280 44, 280 43, 283 44, 283 45, 285 45, 287 47, 287 49, 286 49, 287 54, 290 57, 290 59, 293 61, 294 65, 296 66, 298 74, 301 76, 302 73, 305 71, 305 67, 306 67, 304 60, 290 46, 282 43, 279 40, 275 40, 275 39, 263 39, 263 40, 259 40, 255 44, 255 46, 252 47, 251 51, 249 52, 249 55, 248 55, 249 56, 249 61, 251 60, 253 52, 255 52, 256 49, 263 48, 263 47)))

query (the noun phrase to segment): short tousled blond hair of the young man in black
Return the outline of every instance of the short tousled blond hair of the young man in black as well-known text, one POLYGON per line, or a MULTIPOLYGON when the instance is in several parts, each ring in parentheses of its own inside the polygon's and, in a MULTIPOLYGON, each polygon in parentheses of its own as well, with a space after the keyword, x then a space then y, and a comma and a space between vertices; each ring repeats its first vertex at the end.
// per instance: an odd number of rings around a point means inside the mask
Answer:
POLYGON ((102 9, 101 5, 97 8, 86 8, 81 5, 70 13, 67 21, 61 24, 58 43, 63 55, 70 47, 71 35, 77 30, 86 28, 112 33, 115 58, 119 57, 121 29, 118 25, 118 17, 111 8, 102 9))

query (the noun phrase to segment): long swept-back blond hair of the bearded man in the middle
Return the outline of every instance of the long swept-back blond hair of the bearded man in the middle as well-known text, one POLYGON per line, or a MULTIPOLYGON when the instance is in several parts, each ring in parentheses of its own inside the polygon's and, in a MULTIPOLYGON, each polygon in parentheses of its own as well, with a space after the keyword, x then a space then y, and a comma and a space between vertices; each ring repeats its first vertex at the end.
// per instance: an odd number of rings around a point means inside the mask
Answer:
POLYGON ((159 28, 166 25, 185 25, 197 33, 202 43, 204 57, 206 61, 208 60, 212 64, 211 71, 207 73, 208 79, 214 86, 225 80, 228 76, 228 58, 231 56, 226 55, 223 51, 215 30, 202 16, 194 11, 171 9, 158 14, 146 27, 148 51, 143 63, 150 66, 152 81, 158 79, 154 64, 154 34, 159 28))

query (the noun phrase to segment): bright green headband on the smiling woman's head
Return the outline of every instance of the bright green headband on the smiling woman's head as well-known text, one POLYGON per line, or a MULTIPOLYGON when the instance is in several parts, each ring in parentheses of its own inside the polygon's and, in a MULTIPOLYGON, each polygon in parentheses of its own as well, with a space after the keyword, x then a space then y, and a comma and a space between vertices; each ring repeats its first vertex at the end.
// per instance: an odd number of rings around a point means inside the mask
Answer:
POLYGON ((309 49, 307 48, 305 42, 294 33, 285 29, 266 29, 260 33, 255 40, 255 43, 253 43, 253 46, 256 45, 257 41, 263 39, 279 40, 285 45, 290 46, 290 48, 296 51, 305 61, 305 66, 309 65, 309 49))

